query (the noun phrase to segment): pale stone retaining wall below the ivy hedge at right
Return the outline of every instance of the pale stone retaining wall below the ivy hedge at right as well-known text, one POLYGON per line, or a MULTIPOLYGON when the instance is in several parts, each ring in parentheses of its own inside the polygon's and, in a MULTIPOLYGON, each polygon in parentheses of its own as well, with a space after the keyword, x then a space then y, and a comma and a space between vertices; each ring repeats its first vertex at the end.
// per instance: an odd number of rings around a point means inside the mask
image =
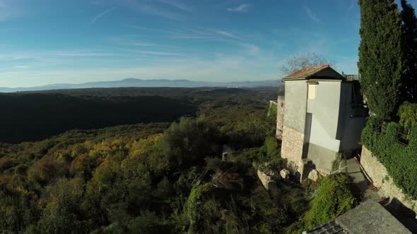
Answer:
POLYGON ((401 189, 397 187, 392 181, 392 178, 389 177, 387 169, 375 156, 372 156, 372 152, 365 146, 362 147, 360 164, 363 166, 365 173, 368 174, 372 180, 373 185, 380 190, 382 195, 385 197, 395 197, 404 204, 404 206, 413 209, 413 211, 417 211, 417 207, 415 206, 417 201, 409 199, 402 193, 401 189))

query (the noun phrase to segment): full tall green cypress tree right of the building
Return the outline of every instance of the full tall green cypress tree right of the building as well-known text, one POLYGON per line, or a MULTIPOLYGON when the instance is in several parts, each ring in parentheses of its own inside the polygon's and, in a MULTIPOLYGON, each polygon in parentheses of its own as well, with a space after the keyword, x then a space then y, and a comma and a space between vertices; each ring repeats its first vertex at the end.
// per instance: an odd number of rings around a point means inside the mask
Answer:
POLYGON ((359 71, 368 106, 377 118, 395 118, 404 77, 401 14, 394 0, 360 0, 359 71))

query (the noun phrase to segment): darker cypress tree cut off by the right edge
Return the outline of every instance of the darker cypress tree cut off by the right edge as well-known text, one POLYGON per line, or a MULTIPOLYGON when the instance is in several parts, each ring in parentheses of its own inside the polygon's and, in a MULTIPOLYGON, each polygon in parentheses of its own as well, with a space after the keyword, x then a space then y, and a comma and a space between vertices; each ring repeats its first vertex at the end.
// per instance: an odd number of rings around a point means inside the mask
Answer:
POLYGON ((404 101, 415 103, 417 102, 417 18, 414 8, 406 0, 401 0, 401 7, 406 57, 406 74, 401 96, 404 101))

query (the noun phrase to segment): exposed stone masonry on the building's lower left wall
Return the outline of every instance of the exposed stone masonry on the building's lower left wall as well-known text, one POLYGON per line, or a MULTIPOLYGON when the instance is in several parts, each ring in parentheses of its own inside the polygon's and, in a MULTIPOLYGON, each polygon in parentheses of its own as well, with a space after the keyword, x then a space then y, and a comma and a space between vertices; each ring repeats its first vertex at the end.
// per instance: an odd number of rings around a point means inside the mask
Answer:
POLYGON ((293 172, 300 172, 303 167, 304 134, 283 125, 281 157, 288 159, 288 167, 293 172))

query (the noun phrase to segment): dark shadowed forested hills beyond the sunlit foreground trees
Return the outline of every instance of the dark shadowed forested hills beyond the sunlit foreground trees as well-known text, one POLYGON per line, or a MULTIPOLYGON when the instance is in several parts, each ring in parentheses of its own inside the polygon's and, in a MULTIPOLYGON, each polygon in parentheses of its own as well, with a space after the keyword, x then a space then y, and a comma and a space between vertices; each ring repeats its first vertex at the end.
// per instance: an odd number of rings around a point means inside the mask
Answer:
POLYGON ((276 89, 114 88, 0 94, 0 142, 43 140, 71 129, 170 123, 211 108, 259 108, 276 89))

